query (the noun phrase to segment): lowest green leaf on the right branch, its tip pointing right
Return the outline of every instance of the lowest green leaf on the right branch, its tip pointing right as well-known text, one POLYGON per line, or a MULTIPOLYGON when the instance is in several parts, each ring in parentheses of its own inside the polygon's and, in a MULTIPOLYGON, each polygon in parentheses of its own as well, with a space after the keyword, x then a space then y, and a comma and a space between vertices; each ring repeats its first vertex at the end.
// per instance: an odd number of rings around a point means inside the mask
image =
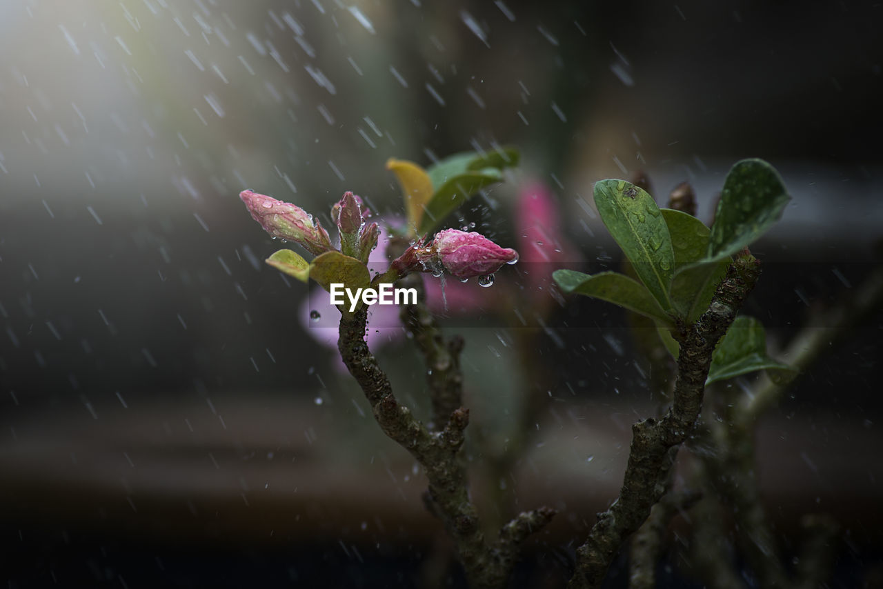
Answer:
POLYGON ((714 349, 706 386, 757 370, 770 370, 774 379, 795 373, 787 364, 766 355, 766 332, 760 321, 740 315, 714 349))

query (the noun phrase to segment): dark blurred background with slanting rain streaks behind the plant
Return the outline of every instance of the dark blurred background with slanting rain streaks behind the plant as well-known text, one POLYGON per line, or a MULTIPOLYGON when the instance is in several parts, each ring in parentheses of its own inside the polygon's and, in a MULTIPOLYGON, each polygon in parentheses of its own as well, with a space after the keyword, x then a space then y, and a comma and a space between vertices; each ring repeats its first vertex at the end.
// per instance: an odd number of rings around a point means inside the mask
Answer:
MULTIPOLYGON (((707 219, 728 167, 762 157, 793 197, 757 250, 767 271, 751 312, 775 345, 879 261, 881 11, 0 4, 10 586, 419 583, 444 544, 419 500, 424 482, 321 343, 328 329, 307 319, 306 287, 263 264, 278 245, 239 191, 296 202, 327 227, 345 190, 400 216, 389 157, 428 165, 512 145, 521 166, 464 218, 514 245, 519 188, 539 181, 580 251, 572 263, 600 268, 618 251, 584 206, 592 182, 645 170, 662 202, 690 180, 707 219)), ((760 434, 777 521, 834 510, 857 539, 841 563, 849 579, 880 547, 879 517, 864 510, 883 476, 867 458, 883 442, 879 320, 850 333, 760 434)), ((494 313, 451 321, 467 338, 479 423, 493 431, 517 386, 512 330, 494 313)), ((512 480, 519 504, 563 514, 528 561, 566 570, 568 542, 615 496, 630 423, 653 405, 615 308, 574 301, 549 321, 536 353, 560 403, 512 480), (563 564, 548 563, 555 551, 563 564)), ((409 348, 390 342, 381 361, 420 406, 409 348)))

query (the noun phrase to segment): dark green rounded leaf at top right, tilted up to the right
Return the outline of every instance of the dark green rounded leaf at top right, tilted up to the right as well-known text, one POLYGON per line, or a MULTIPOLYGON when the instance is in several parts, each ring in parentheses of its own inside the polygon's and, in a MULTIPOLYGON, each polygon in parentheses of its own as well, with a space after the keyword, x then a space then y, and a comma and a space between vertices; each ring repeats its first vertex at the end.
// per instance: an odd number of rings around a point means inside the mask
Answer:
POLYGON ((736 162, 724 180, 706 259, 728 258, 757 241, 781 217, 790 198, 773 166, 757 159, 736 162))

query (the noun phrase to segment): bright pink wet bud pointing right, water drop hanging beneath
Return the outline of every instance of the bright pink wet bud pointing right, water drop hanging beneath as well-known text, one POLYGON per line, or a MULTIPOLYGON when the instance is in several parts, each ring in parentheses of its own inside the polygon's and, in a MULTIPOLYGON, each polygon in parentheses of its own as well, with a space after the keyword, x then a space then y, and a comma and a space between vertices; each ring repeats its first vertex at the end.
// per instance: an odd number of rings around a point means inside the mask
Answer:
POLYGON ((493 274, 503 264, 512 264, 518 260, 515 250, 500 247, 476 231, 439 231, 428 249, 434 250, 442 267, 457 278, 493 274))

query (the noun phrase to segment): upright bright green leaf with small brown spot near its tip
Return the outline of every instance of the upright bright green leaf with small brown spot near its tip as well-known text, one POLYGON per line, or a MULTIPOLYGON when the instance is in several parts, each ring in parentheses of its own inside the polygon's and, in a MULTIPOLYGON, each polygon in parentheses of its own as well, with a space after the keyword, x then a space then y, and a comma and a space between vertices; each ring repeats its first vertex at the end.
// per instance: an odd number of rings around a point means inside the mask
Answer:
POLYGON ((653 197, 625 180, 601 180, 595 184, 594 195, 601 221, 634 265, 641 282, 663 310, 670 310, 668 290, 675 272, 675 252, 653 197))

